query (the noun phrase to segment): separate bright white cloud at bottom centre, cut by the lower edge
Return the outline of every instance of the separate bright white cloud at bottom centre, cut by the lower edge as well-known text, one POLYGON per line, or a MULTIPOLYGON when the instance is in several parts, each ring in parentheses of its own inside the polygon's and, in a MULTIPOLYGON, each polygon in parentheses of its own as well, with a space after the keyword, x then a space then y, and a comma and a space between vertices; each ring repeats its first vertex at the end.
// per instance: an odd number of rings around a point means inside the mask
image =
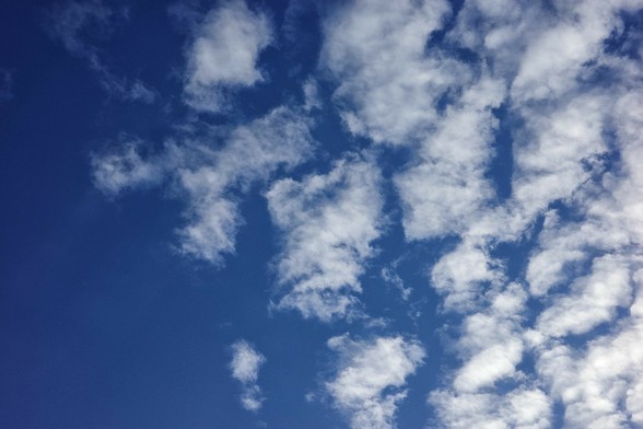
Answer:
POLYGON ((401 336, 352 340, 347 334, 329 339, 328 347, 339 353, 339 363, 326 390, 351 428, 394 428, 407 378, 424 361, 422 346, 401 336))

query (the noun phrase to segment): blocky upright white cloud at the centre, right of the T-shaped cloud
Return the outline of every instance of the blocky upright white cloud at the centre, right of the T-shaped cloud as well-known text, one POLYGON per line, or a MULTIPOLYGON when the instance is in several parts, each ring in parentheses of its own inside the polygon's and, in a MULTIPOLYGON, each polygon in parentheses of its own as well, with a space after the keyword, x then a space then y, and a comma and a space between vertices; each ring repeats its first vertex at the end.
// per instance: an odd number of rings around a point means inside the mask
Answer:
POLYGON ((267 193, 284 250, 277 260, 278 309, 331 321, 355 314, 363 265, 382 233, 381 175, 372 160, 349 156, 328 174, 283 179, 267 193))

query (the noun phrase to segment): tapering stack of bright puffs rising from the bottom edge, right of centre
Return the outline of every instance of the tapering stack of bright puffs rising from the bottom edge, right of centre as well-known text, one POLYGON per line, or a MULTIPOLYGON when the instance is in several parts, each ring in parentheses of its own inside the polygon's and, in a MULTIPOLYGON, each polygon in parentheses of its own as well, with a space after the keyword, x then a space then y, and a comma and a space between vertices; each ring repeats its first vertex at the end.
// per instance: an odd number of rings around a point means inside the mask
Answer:
POLYGON ((447 389, 429 402, 448 428, 549 428, 552 401, 516 369, 525 345, 527 293, 518 283, 488 293, 487 306, 468 315, 454 348, 464 360, 447 389), (503 381, 502 391, 495 383, 503 381))

